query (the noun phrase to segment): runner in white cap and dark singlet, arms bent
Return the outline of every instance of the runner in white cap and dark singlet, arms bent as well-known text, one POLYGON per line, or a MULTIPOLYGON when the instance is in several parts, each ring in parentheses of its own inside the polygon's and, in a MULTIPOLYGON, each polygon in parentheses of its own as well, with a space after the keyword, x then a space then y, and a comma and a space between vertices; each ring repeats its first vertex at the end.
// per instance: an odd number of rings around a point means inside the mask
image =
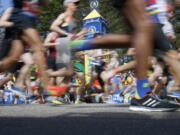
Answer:
MULTIPOLYGON (((49 59, 50 61, 48 61, 49 62, 48 65, 51 65, 51 67, 52 65, 56 65, 54 66, 56 67, 56 69, 50 69, 49 67, 48 74, 50 77, 56 77, 56 82, 58 82, 58 77, 64 77, 63 81, 61 82, 61 85, 62 84, 68 85, 69 84, 68 78, 70 79, 73 73, 73 69, 72 69, 73 67, 71 61, 64 60, 63 58, 63 54, 65 54, 66 52, 66 47, 68 47, 68 42, 70 40, 81 39, 84 37, 84 34, 86 33, 86 29, 83 29, 79 33, 77 33, 76 31, 74 13, 76 12, 79 3, 80 0, 65 0, 63 3, 65 12, 61 13, 50 26, 50 30, 59 34, 59 38, 57 45, 53 46, 55 48, 54 51, 56 51, 56 54, 58 55, 54 56, 54 58, 50 58, 49 59), (67 42, 65 42, 65 40, 67 42)), ((80 88, 81 90, 77 92, 78 103, 83 103, 80 101, 83 88, 80 88)))

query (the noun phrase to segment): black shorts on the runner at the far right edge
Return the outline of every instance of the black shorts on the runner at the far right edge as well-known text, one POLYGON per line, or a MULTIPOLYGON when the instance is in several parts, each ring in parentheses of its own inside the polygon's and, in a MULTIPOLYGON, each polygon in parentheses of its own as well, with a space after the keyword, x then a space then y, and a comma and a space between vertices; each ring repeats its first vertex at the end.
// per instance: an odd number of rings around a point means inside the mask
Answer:
POLYGON ((162 25, 156 25, 154 45, 155 49, 159 49, 164 52, 174 50, 171 42, 167 39, 167 37, 162 31, 162 25))

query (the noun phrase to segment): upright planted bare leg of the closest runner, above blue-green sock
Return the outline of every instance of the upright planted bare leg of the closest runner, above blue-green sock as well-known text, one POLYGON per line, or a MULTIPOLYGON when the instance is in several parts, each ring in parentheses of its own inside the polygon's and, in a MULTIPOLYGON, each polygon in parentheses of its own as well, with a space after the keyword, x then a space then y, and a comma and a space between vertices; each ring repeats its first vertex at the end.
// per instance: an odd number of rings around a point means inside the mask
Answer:
POLYGON ((153 48, 153 24, 146 14, 145 5, 142 0, 128 0, 125 7, 125 14, 133 26, 133 45, 136 48, 137 56, 137 78, 147 78, 148 56, 153 48))

